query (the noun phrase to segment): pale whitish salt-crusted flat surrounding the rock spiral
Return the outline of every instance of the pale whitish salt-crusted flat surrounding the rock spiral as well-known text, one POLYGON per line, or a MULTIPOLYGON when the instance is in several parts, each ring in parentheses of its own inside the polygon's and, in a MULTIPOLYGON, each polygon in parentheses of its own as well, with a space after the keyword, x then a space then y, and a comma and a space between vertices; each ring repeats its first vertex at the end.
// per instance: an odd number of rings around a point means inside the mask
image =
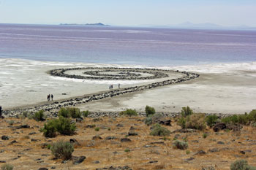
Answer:
MULTIPOLYGON (((33 106, 45 103, 48 93, 54 101, 75 98, 114 88, 146 85, 159 80, 76 80, 53 77, 51 69, 76 67, 129 67, 145 66, 110 65, 94 63, 60 63, 29 61, 23 59, 0 59, 0 105, 3 109, 33 106)), ((143 111, 146 105, 158 112, 179 112, 189 106, 195 112, 244 113, 255 109, 256 63, 219 63, 198 66, 157 67, 200 74, 196 80, 167 85, 138 93, 128 93, 113 98, 80 104, 82 110, 111 112, 127 108, 143 111)), ((180 75, 172 75, 178 77, 180 75)))

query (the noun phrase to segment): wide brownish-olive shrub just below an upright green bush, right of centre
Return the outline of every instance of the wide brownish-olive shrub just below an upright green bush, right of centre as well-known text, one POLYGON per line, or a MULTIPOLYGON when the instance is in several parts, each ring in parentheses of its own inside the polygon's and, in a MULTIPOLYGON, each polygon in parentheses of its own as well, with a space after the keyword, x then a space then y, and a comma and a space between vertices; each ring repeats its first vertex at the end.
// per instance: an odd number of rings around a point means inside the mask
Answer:
POLYGON ((178 125, 181 128, 194 128, 202 131, 206 128, 205 115, 203 113, 195 113, 187 117, 181 117, 178 120, 178 125))

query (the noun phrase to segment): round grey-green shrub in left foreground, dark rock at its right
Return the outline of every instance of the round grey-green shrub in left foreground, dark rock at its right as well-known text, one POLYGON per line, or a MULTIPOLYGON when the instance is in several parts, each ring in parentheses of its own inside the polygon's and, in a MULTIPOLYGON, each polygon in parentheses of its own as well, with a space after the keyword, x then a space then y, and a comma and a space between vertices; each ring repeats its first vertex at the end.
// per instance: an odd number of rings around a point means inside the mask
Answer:
POLYGON ((63 160, 69 160, 72 158, 72 152, 74 152, 74 147, 69 142, 56 142, 50 147, 51 152, 56 158, 61 158, 63 160))

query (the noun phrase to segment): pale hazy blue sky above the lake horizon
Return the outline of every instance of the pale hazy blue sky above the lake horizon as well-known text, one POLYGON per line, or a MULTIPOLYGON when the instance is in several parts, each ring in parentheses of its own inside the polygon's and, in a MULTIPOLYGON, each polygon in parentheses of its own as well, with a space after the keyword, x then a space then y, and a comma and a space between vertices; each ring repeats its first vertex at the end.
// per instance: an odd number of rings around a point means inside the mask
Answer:
POLYGON ((256 26, 256 0, 0 0, 0 23, 256 26))

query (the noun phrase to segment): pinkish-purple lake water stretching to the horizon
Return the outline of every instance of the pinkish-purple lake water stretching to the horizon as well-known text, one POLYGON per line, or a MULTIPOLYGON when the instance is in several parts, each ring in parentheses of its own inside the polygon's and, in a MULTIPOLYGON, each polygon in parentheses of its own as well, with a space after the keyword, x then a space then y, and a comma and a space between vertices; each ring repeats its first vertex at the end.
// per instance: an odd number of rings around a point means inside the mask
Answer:
POLYGON ((0 24, 0 58, 179 66, 256 61, 256 31, 0 24))

